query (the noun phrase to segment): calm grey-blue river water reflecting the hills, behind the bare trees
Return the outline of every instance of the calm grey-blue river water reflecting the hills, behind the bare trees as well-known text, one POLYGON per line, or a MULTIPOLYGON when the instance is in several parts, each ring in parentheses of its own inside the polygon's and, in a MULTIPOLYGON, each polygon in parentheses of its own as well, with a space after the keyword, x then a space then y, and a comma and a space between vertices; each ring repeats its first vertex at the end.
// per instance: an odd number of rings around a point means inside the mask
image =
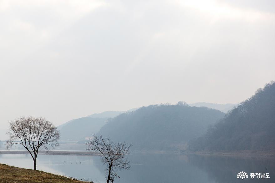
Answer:
MULTIPOLYGON (((179 154, 131 154, 131 169, 121 171, 120 183, 232 183, 275 182, 274 158, 232 158, 179 154), (270 179, 237 179, 237 173, 245 171, 270 173, 270 179)), ((0 163, 33 168, 27 154, 0 154, 0 163)), ((103 183, 105 167, 99 156, 38 155, 37 169, 54 174, 103 183)))

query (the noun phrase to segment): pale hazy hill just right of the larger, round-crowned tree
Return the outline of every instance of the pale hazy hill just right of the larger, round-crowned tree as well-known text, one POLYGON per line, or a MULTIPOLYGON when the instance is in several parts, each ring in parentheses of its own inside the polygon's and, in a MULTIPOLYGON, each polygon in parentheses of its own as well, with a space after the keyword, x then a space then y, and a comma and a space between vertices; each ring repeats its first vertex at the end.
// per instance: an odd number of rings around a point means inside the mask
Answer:
POLYGON ((62 126, 58 126, 61 138, 64 141, 79 141, 85 137, 97 133, 105 124, 108 118, 82 117, 68 121, 62 126))

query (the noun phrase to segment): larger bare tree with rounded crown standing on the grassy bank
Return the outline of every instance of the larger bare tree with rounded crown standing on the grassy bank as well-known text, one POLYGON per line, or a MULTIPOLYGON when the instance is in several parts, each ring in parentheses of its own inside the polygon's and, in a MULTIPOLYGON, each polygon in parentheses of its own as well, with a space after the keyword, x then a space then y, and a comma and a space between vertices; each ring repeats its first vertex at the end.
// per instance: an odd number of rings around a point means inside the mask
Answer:
POLYGON ((34 163, 33 169, 36 170, 39 148, 48 152, 49 147, 58 146, 59 131, 51 122, 42 117, 20 117, 9 123, 7 134, 10 138, 6 142, 7 148, 10 149, 16 144, 23 145, 31 154, 34 163))

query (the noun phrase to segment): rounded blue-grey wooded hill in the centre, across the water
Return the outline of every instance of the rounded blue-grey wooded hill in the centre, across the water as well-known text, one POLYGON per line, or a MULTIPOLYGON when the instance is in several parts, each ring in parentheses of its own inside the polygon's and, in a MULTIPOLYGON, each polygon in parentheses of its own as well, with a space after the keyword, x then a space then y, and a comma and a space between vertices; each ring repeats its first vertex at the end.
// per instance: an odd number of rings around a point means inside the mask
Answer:
POLYGON ((109 119, 98 134, 131 143, 132 150, 176 150, 224 115, 206 107, 151 105, 109 119))

